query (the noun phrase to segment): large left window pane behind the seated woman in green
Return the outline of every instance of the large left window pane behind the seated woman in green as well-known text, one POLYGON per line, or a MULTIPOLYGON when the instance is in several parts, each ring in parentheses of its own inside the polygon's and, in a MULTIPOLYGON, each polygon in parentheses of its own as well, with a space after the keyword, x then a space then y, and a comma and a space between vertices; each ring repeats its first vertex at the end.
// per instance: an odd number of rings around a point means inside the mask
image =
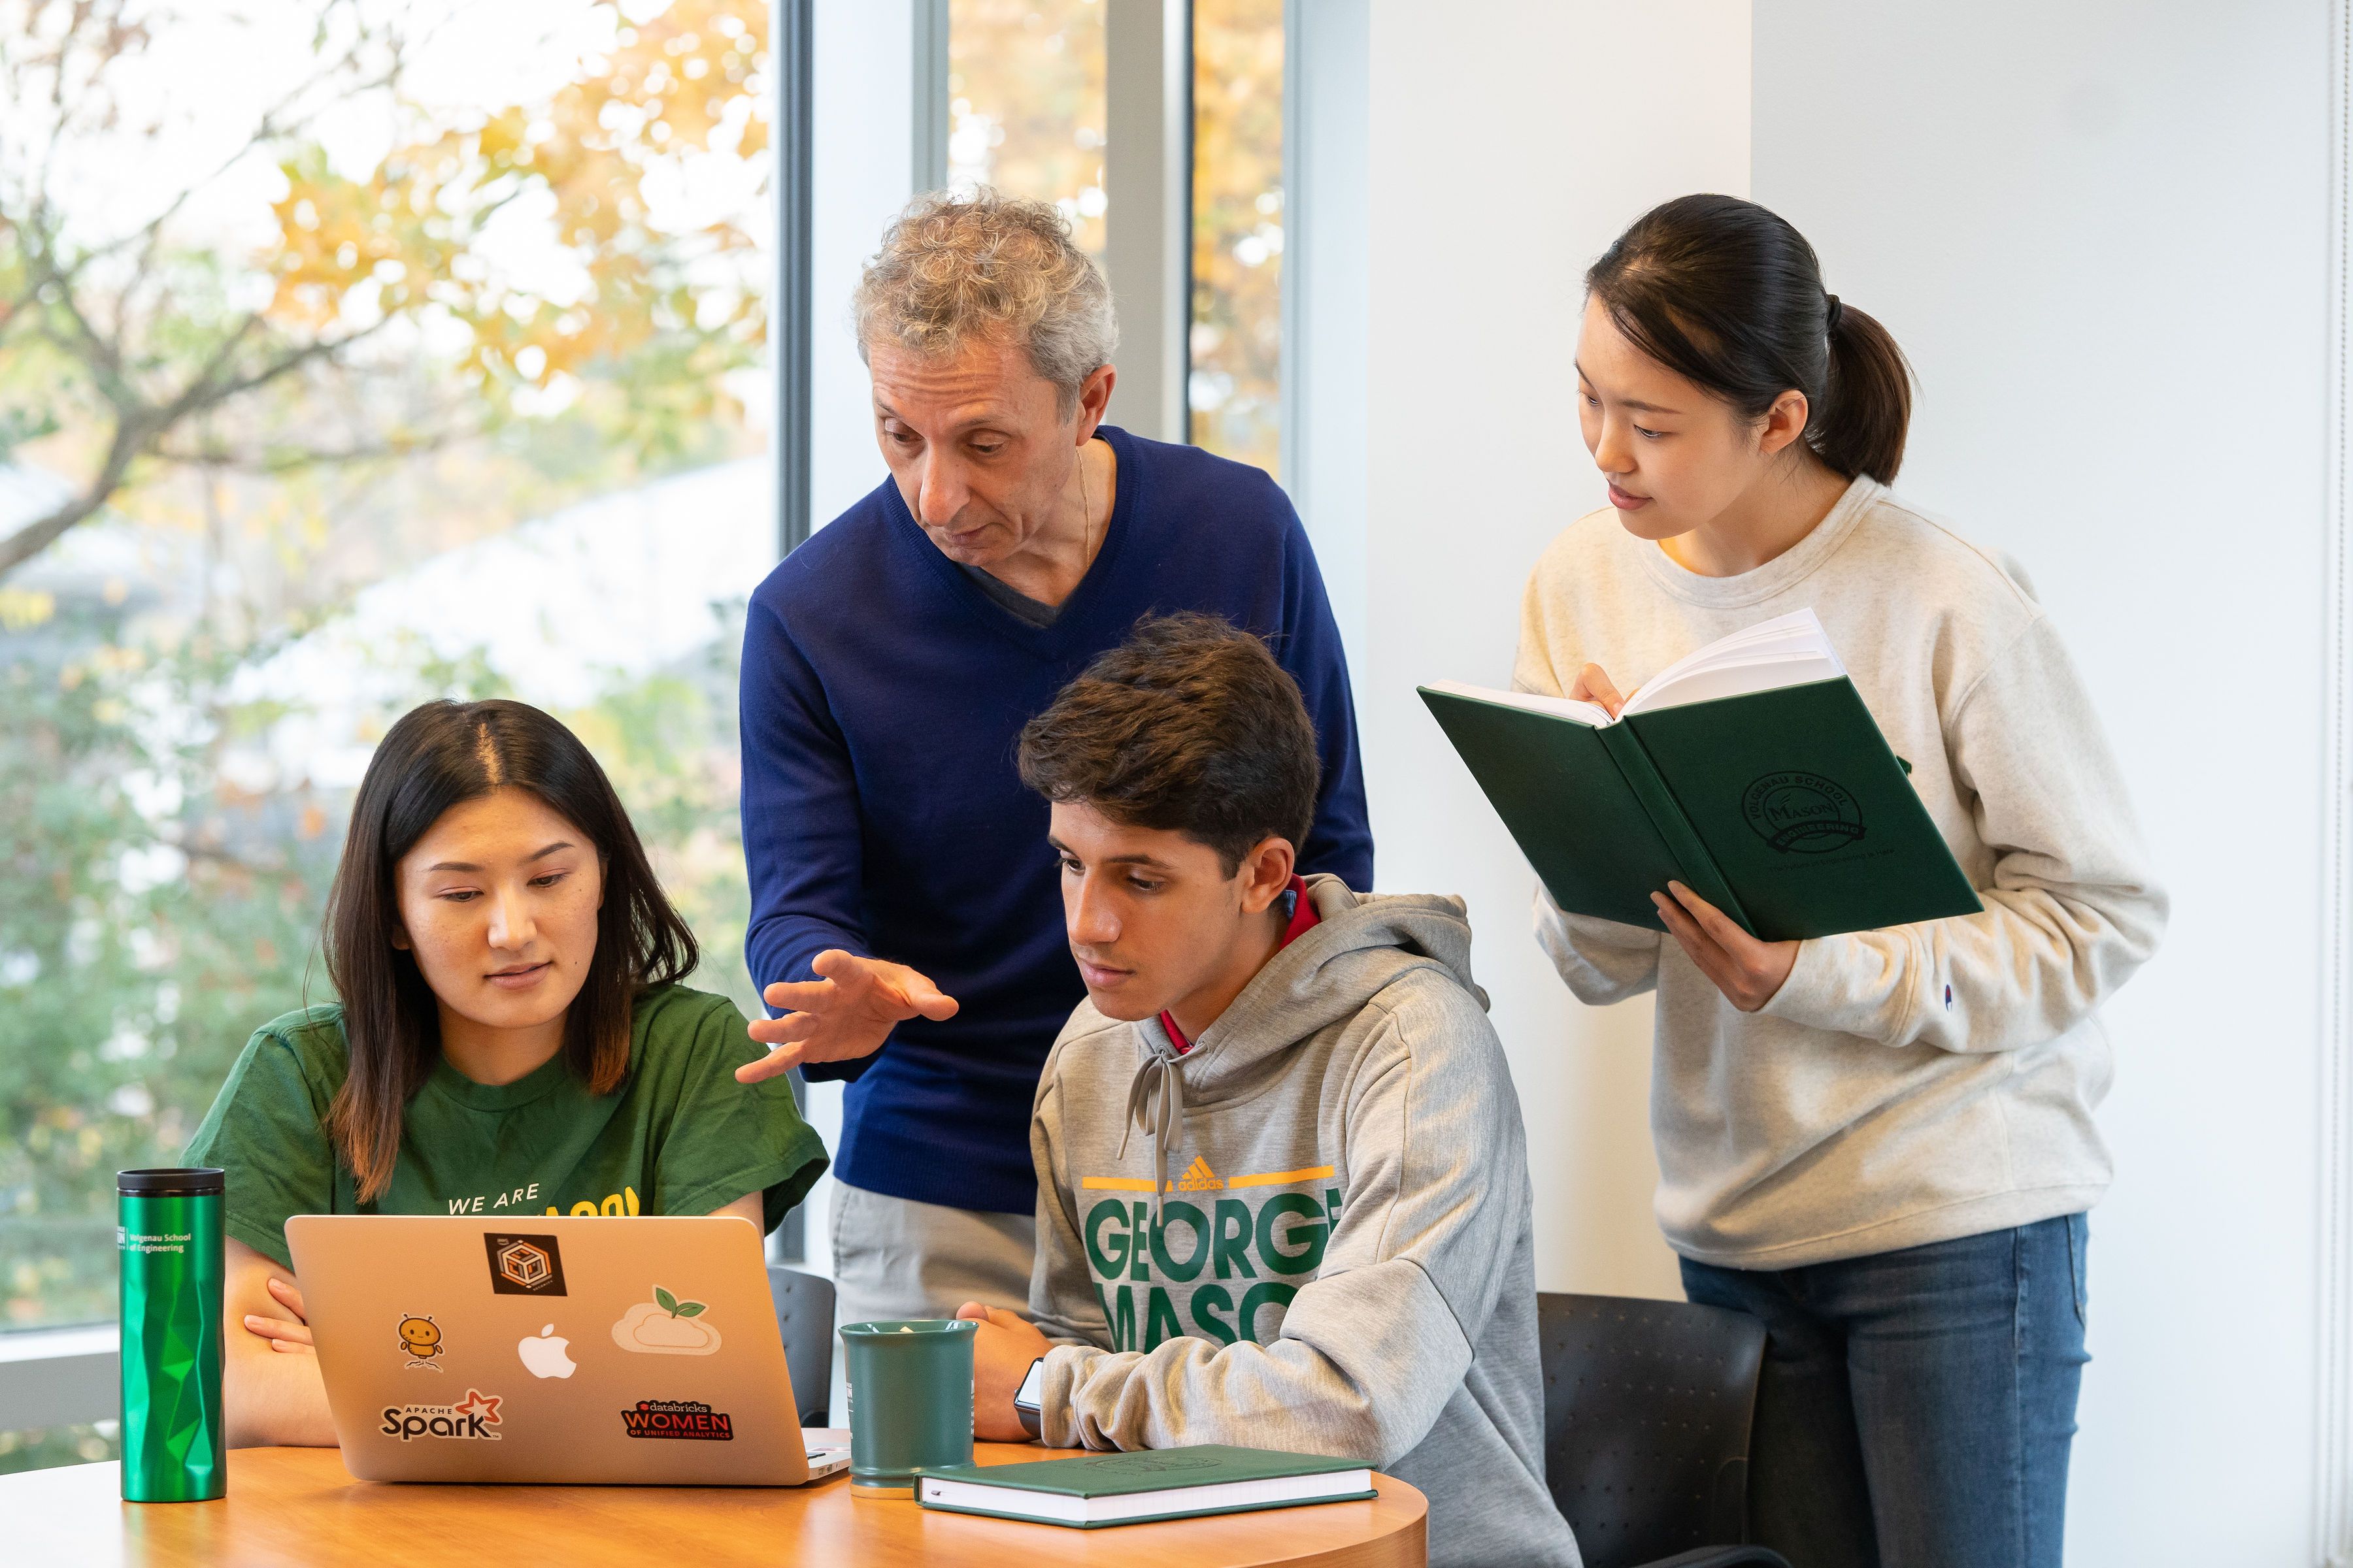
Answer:
POLYGON ((765 0, 144 16, 0 19, 7 1328, 113 1316, 113 1171, 329 997, 351 790, 424 698, 565 717, 753 1004, 765 0))

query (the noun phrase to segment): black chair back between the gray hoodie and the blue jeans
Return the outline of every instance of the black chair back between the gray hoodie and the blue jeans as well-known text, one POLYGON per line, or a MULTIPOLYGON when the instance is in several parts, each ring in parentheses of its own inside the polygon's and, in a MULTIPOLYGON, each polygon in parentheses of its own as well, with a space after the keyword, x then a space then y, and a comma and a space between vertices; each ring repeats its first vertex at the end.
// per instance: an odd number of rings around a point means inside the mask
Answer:
POLYGON ((1617 1295, 1539 1295, 1544 1469, 1586 1568, 1788 1568, 1748 1537, 1765 1324, 1617 1295))

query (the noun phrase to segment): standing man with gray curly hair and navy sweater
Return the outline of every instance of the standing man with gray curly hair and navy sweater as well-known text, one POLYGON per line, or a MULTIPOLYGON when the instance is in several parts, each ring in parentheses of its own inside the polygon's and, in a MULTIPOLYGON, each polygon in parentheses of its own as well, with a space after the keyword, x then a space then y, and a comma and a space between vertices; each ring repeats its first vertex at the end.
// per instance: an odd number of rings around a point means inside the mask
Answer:
POLYGON ((774 1051, 739 1077, 852 1079, 842 1321, 1024 1307, 1031 1095, 1085 987, 1021 726, 1141 616, 1224 616, 1315 719, 1301 870, 1369 889, 1348 670, 1275 482, 1104 423, 1118 320, 1054 207, 918 197, 854 324, 889 480, 769 574, 744 630, 746 959, 774 1051))

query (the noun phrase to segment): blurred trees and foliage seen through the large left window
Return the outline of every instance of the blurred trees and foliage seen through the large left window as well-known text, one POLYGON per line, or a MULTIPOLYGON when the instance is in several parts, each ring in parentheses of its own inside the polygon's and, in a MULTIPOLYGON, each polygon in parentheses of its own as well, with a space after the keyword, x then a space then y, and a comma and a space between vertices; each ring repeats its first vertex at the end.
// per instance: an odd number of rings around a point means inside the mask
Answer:
MULTIPOLYGON (((360 733, 327 733, 240 672, 431 555, 762 444, 727 386, 765 353, 765 5, 579 0, 609 47, 567 82, 426 113, 398 71, 424 7, 268 2, 311 19, 315 71, 275 103, 221 92, 275 179, 231 223, 266 235, 245 249, 179 205, 106 237, 99 186, 40 183, 75 143, 136 158, 172 28, 245 9, 0 0, 0 501, 31 463, 104 501, 0 583, 0 1328, 113 1316, 113 1173, 174 1164, 252 1030, 332 994, 351 802, 325 755, 428 696, 511 693, 402 635, 367 649, 360 733), (362 101, 395 134, 348 169, 311 132, 362 101), (656 223, 706 158, 751 193, 736 219, 656 223), (565 261, 529 287, 487 242, 515 214, 565 261)), ((713 616, 701 654, 558 717, 701 938, 696 983, 748 1006, 741 604, 675 614, 713 616)), ((0 1465, 87 1436, 0 1439, 0 1465)))

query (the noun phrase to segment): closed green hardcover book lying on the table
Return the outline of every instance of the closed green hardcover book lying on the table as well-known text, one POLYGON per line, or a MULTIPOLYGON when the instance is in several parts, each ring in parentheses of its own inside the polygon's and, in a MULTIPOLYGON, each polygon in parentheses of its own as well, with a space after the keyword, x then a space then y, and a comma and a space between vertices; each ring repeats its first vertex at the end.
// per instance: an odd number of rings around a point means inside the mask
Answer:
POLYGON ((922 1472, 915 1488, 927 1509, 1033 1519, 1080 1530, 1372 1495, 1372 1467, 1362 1460, 1221 1443, 1087 1453, 1028 1465, 944 1465, 922 1472))

